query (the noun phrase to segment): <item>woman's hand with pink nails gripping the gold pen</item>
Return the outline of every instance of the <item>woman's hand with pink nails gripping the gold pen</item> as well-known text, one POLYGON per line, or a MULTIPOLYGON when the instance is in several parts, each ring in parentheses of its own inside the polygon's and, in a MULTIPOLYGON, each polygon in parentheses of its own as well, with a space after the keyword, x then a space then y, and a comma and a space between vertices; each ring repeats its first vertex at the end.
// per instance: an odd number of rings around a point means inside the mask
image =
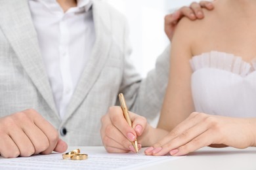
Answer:
POLYGON ((121 107, 110 107, 108 113, 101 118, 100 135, 102 143, 108 152, 135 152, 131 141, 138 140, 139 149, 142 141, 139 139, 145 133, 148 125, 146 118, 129 112, 133 127, 127 124, 121 107), (137 138, 138 137, 138 138, 137 138))

